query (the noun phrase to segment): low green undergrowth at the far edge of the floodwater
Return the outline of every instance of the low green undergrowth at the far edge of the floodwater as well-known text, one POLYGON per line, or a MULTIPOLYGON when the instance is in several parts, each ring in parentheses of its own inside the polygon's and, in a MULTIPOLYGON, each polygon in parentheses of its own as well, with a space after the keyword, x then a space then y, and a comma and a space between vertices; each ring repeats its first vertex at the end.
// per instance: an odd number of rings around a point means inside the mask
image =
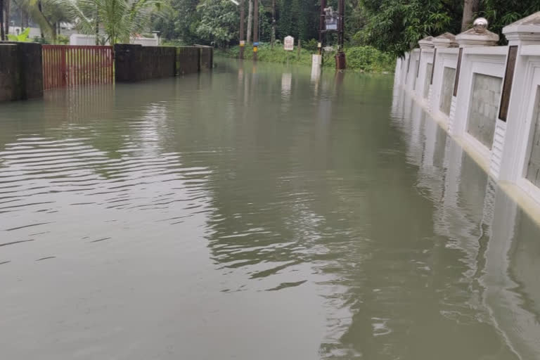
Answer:
MULTIPOLYGON (((217 55, 226 56, 228 58, 238 58, 240 48, 234 46, 227 50, 216 50, 217 55)), ((312 51, 301 49, 298 54, 297 48, 294 51, 285 51, 281 44, 276 44, 274 49, 271 49, 269 44, 259 46, 259 61, 267 61, 270 63, 290 63, 297 65, 311 66, 312 51)), ((252 58, 251 46, 245 48, 245 58, 252 58)), ((335 53, 324 54, 324 67, 335 67, 335 53)), ((393 72, 395 59, 387 53, 378 51, 371 46, 352 46, 345 48, 345 56, 347 57, 347 69, 358 70, 363 72, 393 72)))

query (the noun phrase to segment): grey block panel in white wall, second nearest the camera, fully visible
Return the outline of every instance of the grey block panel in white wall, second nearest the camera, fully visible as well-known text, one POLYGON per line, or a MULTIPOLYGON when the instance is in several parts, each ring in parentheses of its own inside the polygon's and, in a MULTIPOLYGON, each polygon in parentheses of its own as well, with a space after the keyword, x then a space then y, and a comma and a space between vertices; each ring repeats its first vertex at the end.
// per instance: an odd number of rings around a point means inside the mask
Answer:
POLYGON ((503 79, 484 74, 473 75, 473 94, 467 131, 491 149, 503 79))

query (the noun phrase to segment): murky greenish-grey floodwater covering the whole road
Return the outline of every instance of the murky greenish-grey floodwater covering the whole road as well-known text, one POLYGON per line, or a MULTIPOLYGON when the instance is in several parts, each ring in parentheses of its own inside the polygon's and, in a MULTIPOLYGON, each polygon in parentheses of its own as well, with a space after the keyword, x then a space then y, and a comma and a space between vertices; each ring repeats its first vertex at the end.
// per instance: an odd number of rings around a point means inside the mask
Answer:
POLYGON ((1 359, 540 359, 540 231, 392 75, 0 107, 1 359))

